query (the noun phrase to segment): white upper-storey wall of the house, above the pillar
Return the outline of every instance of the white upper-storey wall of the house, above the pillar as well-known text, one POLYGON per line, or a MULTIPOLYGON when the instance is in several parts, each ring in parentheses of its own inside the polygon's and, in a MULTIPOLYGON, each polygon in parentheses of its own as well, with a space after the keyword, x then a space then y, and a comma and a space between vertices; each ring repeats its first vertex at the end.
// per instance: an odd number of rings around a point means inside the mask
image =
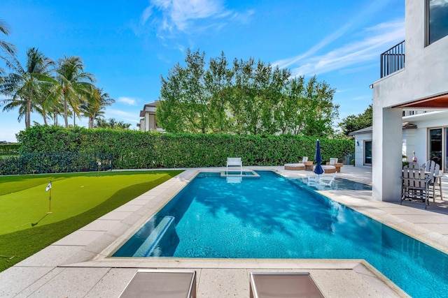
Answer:
POLYGON ((406 1, 405 68, 374 82, 374 96, 383 107, 448 91, 448 36, 425 47, 424 11, 425 1, 406 1))

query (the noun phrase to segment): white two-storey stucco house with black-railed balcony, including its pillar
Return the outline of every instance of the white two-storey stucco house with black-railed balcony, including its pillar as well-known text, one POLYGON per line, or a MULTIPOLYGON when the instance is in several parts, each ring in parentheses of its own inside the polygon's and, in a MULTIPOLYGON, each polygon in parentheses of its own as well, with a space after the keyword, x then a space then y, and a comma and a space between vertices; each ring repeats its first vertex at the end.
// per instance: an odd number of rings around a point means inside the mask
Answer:
MULTIPOLYGON (((448 110, 448 1, 405 0, 405 41, 381 54, 380 68, 372 84, 372 195, 399 201, 403 110, 448 110)), ((445 169, 447 126, 427 125, 430 137, 416 144, 417 157, 441 151, 445 169)))

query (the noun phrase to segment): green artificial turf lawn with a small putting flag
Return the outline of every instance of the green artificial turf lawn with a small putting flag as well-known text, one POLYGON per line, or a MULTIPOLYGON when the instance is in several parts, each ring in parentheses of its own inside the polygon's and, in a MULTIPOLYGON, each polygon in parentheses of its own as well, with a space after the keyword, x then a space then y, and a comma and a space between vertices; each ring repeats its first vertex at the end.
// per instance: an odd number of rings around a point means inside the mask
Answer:
POLYGON ((120 207, 181 171, 0 177, 0 271, 120 207), (49 192, 52 181, 51 214, 49 192), (11 258, 13 257, 13 258, 11 258))

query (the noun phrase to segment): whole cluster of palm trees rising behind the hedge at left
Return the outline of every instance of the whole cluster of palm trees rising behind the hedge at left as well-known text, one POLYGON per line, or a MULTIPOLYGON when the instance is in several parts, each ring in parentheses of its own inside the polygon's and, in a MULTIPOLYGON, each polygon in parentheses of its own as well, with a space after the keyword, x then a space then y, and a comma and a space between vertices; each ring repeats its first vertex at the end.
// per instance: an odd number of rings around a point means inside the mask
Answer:
MULTIPOLYGON (((7 24, 0 20, 0 36, 8 36, 7 24)), ((59 59, 57 64, 31 47, 27 50, 26 63, 20 64, 14 45, 0 39, 0 60, 6 64, 0 68, 0 100, 3 112, 18 110, 18 121, 25 118, 25 128, 31 126, 31 112, 40 114, 45 125, 48 119, 58 125, 57 118, 64 118, 65 127, 69 127, 68 118, 81 115, 89 119, 89 128, 94 127, 94 120, 101 122, 104 108, 115 100, 102 89, 94 86, 94 75, 87 73, 80 57, 71 56, 59 59)), ((98 126, 104 126, 102 121, 98 126)), ((110 121, 113 127, 116 121, 110 121)), ((110 124, 109 123, 109 124, 110 124)), ((118 123, 120 128, 129 128, 131 124, 118 123)))

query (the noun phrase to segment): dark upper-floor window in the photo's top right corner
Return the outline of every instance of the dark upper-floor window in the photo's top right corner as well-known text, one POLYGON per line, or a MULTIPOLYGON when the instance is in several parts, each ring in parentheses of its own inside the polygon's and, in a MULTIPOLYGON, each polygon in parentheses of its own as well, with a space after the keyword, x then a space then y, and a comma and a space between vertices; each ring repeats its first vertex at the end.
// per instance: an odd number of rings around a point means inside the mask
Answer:
POLYGON ((448 36, 448 0, 426 0, 426 45, 448 36))

